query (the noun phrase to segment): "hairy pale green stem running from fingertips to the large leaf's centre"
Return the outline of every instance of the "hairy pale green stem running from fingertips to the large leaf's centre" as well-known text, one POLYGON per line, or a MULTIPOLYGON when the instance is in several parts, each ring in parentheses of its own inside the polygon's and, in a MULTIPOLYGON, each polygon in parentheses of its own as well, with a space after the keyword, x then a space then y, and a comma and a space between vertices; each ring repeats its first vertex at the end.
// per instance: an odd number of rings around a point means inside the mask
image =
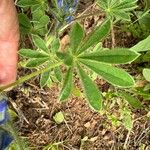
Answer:
POLYGON ((10 83, 10 84, 8 84, 8 85, 2 86, 2 87, 0 87, 0 93, 2 93, 3 91, 7 90, 7 89, 10 88, 10 87, 16 87, 17 85, 19 85, 19 84, 21 84, 21 83, 23 83, 23 82, 25 82, 25 81, 27 81, 27 80, 29 80, 29 79, 31 79, 31 78, 37 76, 37 75, 43 73, 43 72, 46 72, 46 71, 48 71, 49 69, 58 67, 58 66, 60 66, 61 64, 62 64, 62 61, 60 61, 60 62, 58 62, 58 63, 56 63, 56 64, 52 64, 51 66, 48 65, 47 67, 45 67, 45 68, 43 68, 43 69, 41 69, 41 70, 38 70, 38 71, 36 71, 36 72, 33 72, 33 73, 29 74, 29 75, 26 75, 26 76, 24 76, 24 77, 18 79, 17 81, 15 81, 15 82, 13 82, 13 83, 10 83))

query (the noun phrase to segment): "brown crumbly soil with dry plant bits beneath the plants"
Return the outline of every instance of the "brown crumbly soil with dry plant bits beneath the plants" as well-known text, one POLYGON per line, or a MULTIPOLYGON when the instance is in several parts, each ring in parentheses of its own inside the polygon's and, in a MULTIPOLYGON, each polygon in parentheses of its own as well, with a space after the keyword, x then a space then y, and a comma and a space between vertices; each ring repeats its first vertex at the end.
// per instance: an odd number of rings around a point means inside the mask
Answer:
MULTIPOLYGON (((83 12, 84 3, 80 6, 79 13, 83 12)), ((86 8, 90 5, 89 1, 86 8)), ((83 20, 87 33, 102 18, 103 15, 83 20)), ((114 29, 113 34, 115 46, 130 47, 137 42, 130 33, 120 34, 118 28, 114 29)), ((112 47, 112 36, 103 45, 112 47)), ((18 74, 25 72, 28 71, 22 69, 18 74)), ((131 108, 136 121, 133 130, 128 132, 123 125, 113 126, 105 113, 92 111, 84 96, 72 96, 67 102, 59 103, 59 86, 54 84, 50 89, 41 89, 37 81, 36 77, 8 93, 16 105, 13 108, 19 115, 16 120, 18 131, 28 141, 31 149, 42 150, 50 143, 58 143, 59 150, 150 150, 150 120, 144 117, 147 110, 131 108), (65 122, 57 124, 53 116, 60 111, 64 114, 65 122), (88 140, 84 141, 87 137, 88 140)), ((96 82, 103 91, 109 90, 110 86, 106 82, 99 79, 96 82)), ((146 105, 149 103, 146 102, 146 105)), ((112 113, 116 111, 115 108, 110 109, 112 113)))

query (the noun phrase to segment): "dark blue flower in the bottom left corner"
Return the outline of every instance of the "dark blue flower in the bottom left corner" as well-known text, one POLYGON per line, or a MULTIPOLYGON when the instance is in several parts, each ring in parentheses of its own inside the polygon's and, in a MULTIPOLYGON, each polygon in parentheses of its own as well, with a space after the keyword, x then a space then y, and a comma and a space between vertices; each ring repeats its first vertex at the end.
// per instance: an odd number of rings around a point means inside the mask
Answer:
POLYGON ((0 150, 5 150, 13 141, 13 137, 4 129, 0 128, 0 150))

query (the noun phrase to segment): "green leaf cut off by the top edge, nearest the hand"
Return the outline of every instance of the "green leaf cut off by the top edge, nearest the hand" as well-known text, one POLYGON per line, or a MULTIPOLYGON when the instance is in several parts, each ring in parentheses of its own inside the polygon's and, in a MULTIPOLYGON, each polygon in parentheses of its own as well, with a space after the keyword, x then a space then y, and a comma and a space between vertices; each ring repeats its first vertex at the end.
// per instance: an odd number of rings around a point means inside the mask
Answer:
POLYGON ((39 0, 19 0, 17 6, 19 7, 29 7, 40 4, 39 0))

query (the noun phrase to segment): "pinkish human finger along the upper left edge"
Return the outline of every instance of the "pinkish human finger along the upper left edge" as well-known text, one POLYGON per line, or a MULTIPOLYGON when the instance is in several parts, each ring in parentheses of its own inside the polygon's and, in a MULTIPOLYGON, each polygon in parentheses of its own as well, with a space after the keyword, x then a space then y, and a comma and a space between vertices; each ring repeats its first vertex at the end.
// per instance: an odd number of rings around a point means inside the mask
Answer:
POLYGON ((15 81, 19 26, 13 0, 0 0, 0 86, 15 81))

